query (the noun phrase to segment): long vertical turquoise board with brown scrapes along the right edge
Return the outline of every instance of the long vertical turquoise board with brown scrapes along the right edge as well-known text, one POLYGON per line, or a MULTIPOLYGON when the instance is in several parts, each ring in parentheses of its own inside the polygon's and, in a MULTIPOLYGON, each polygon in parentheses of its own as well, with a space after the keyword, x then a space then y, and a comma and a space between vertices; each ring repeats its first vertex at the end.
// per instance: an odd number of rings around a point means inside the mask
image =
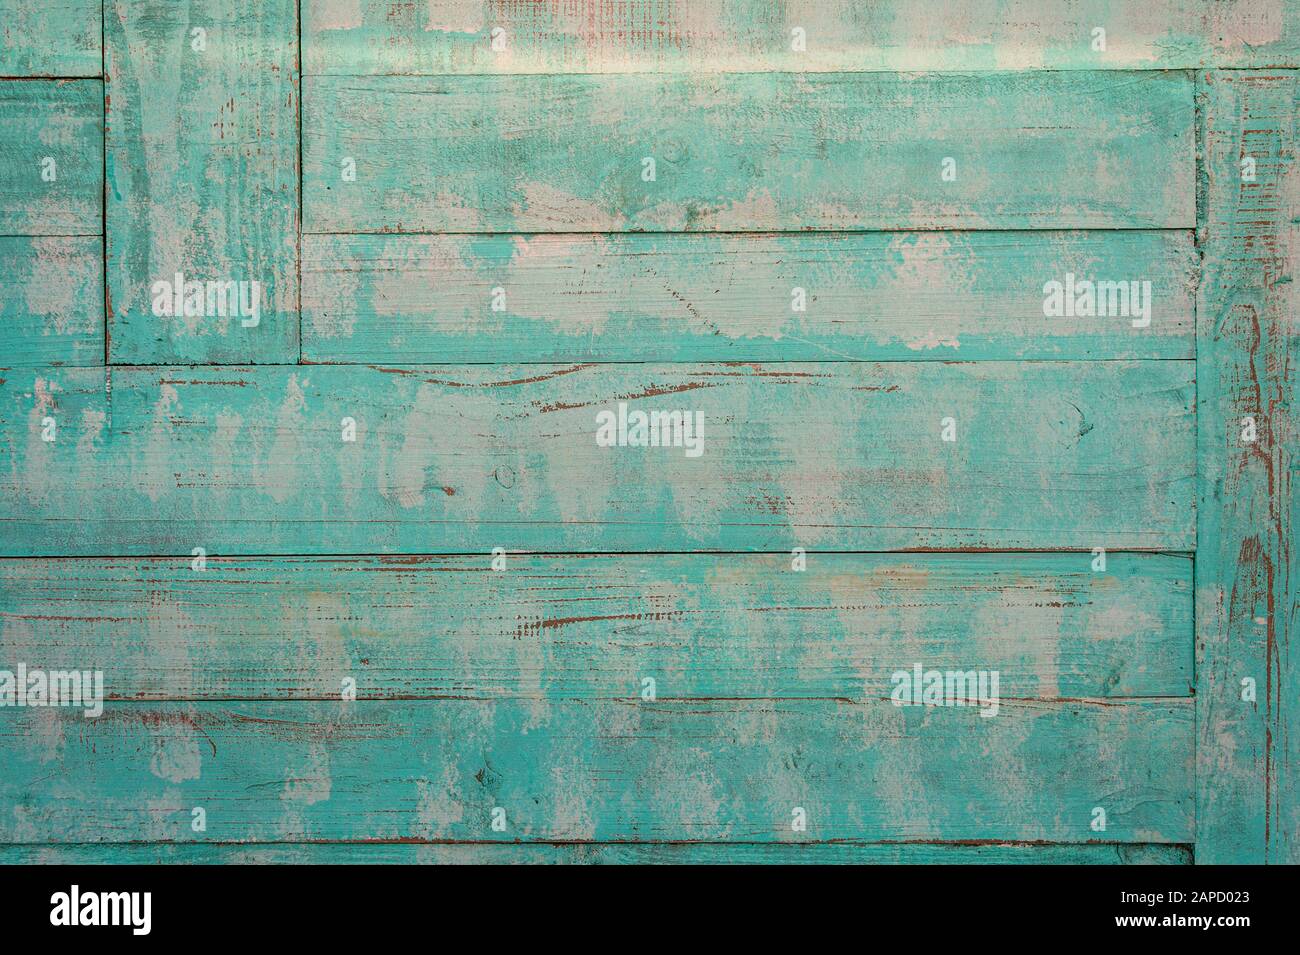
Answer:
POLYGON ((1300 74, 1206 73, 1201 97, 1196 858, 1294 864, 1300 74))

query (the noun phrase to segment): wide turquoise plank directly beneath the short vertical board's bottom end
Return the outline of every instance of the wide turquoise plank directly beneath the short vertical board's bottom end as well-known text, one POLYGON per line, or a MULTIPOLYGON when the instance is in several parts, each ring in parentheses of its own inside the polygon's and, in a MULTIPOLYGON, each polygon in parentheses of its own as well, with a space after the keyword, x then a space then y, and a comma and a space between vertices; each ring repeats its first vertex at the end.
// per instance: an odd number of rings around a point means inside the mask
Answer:
POLYGON ((1193 543, 1188 361, 131 368, 105 385, 5 376, 5 555, 1193 543), (636 427, 651 412, 682 425, 660 420, 659 447, 636 427))

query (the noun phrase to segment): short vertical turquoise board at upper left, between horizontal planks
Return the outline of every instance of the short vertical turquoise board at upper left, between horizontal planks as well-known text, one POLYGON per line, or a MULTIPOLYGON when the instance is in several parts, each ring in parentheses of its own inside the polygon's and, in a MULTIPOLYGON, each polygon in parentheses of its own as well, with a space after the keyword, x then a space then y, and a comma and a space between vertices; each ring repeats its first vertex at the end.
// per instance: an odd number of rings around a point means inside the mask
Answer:
POLYGON ((298 4, 107 9, 109 359, 296 361, 298 4))

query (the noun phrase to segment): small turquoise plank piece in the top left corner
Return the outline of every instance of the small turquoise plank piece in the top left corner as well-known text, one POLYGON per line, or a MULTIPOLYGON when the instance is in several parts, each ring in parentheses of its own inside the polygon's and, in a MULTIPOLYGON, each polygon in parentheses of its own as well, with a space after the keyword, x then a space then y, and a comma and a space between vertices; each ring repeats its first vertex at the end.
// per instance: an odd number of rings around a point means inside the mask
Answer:
POLYGON ((103 0, 0 0, 0 77, 101 77, 103 0))

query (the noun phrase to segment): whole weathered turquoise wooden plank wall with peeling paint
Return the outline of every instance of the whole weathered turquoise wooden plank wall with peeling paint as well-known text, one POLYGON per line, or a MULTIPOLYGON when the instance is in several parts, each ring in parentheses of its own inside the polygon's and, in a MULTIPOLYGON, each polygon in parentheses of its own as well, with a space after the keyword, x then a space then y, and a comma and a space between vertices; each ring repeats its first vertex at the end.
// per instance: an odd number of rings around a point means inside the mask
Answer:
POLYGON ((0 863, 1300 860, 1295 0, 0 55, 0 863))

